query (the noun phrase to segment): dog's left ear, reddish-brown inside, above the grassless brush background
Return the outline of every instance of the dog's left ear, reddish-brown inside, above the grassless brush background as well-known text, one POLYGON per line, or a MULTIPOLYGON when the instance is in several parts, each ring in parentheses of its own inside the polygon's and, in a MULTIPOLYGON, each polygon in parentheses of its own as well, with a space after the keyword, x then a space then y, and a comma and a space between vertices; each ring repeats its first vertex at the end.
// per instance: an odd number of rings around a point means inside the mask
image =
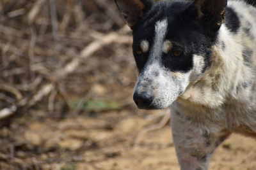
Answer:
POLYGON ((131 28, 153 4, 152 0, 115 0, 115 3, 131 28))

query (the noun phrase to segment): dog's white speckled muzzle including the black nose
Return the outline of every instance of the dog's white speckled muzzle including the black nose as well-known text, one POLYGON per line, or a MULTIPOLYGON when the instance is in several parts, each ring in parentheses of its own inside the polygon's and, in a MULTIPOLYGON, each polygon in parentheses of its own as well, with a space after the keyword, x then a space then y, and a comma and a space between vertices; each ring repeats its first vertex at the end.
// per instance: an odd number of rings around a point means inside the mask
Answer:
POLYGON ((180 96, 185 89, 186 81, 184 78, 172 78, 168 73, 163 72, 157 78, 151 78, 149 73, 139 76, 133 94, 138 109, 162 110, 171 106, 180 96))

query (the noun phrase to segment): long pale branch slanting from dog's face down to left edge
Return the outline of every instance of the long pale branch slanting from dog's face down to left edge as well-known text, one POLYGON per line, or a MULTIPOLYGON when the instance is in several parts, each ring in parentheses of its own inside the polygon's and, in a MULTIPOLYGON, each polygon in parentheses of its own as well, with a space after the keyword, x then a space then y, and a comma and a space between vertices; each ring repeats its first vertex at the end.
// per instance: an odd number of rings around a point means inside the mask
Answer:
MULTIPOLYGON (((127 27, 124 27, 123 29, 120 29, 120 31, 118 31, 118 32, 126 32, 128 30, 129 29, 127 29, 127 27)), ((113 43, 113 42, 131 43, 131 38, 127 38, 127 36, 121 36, 118 32, 111 32, 109 34, 106 34, 105 36, 102 36, 102 38, 97 39, 97 40, 93 41, 92 43, 90 43, 88 46, 86 46, 81 51, 79 57, 71 60, 71 62, 69 62, 65 67, 63 67, 62 69, 53 73, 52 79, 54 80, 54 82, 58 82, 61 80, 61 78, 74 72, 76 70, 76 68, 79 66, 79 64, 81 64, 81 60, 87 59, 88 57, 90 57, 90 55, 92 55, 93 53, 97 52, 97 50, 102 48, 102 46, 109 45, 110 43, 113 43)), ((32 66, 31 66, 31 69, 33 69, 32 66)), ((35 105, 38 101, 41 101, 44 98, 44 96, 49 95, 53 89, 54 89, 53 83, 47 83, 47 84, 43 85, 42 88, 40 90, 38 90, 38 92, 36 92, 35 96, 33 96, 32 99, 30 99, 29 101, 23 100, 22 106, 24 106, 25 104, 28 107, 35 105)), ((13 89, 9 90, 9 91, 13 92, 13 89)), ((16 96, 17 96, 17 94, 19 94, 17 92, 19 92, 19 91, 17 91, 17 90, 15 91, 16 96)), ((67 97, 67 95, 65 95, 65 92, 63 92, 63 90, 61 90, 61 89, 59 89, 58 92, 60 92, 63 99, 65 99, 65 102, 70 107, 70 104, 67 100, 68 97, 67 97)), ((22 96, 21 97, 19 96, 19 99, 22 99, 22 96)), ((0 111, 0 119, 8 117, 8 116, 12 115, 13 113, 15 113, 15 111, 17 111, 17 107, 19 107, 19 106, 12 106, 11 108, 4 108, 3 110, 1 110, 0 111)))

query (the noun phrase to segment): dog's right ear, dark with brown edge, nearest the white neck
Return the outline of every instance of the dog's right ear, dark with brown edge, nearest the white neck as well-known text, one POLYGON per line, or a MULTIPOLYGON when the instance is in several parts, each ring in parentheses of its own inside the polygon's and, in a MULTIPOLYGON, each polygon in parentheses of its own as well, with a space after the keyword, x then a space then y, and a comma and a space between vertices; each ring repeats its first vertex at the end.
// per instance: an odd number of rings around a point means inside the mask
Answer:
POLYGON ((197 10, 197 17, 215 31, 220 29, 225 19, 226 6, 227 0, 195 0, 192 4, 197 10))

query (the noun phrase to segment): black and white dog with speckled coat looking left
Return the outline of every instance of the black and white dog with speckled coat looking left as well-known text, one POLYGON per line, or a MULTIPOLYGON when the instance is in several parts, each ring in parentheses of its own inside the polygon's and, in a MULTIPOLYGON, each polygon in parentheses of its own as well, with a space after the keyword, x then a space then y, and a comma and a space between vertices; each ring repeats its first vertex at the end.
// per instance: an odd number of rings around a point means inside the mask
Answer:
POLYGON ((255 0, 115 2, 133 31, 134 101, 171 106, 182 170, 207 169, 232 132, 256 138, 255 0))

